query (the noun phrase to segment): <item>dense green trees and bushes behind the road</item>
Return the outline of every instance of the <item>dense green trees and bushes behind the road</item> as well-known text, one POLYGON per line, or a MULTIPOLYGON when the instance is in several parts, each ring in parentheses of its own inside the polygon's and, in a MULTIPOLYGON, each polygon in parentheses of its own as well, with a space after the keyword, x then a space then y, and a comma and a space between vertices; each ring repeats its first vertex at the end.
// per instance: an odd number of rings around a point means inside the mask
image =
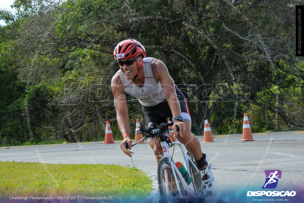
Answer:
MULTIPOLYGON (((108 86, 119 69, 113 49, 129 38, 147 46, 147 56, 164 61, 188 98, 193 133, 203 133, 206 107, 214 134, 227 134, 235 114, 233 132, 240 133, 245 112, 253 132, 304 129, 304 68, 294 43, 296 3, 234 1, 235 9, 222 0, 16 0, 16 15, 0 10, 8 24, 0 27, 0 145, 103 140, 106 120, 114 138, 122 138, 108 86), (133 20, 141 16, 162 19, 133 20), (62 105, 71 81, 78 81, 64 79, 69 77, 81 78, 84 87, 76 92, 82 97, 67 100, 75 105, 62 105), (209 84, 209 89, 188 86, 193 84, 209 84), (233 84, 248 87, 241 86, 242 95, 230 91, 233 84), (241 101, 237 112, 230 100, 241 101)), ((128 110, 131 129, 136 118, 143 124, 140 103, 128 102, 128 110)))

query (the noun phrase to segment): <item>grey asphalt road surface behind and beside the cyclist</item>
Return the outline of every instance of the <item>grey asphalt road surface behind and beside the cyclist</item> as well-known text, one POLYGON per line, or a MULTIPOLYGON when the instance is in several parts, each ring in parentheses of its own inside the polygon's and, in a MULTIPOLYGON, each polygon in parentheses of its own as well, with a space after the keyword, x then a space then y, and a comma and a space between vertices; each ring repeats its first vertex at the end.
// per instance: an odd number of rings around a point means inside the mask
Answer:
MULTIPOLYGON (((209 162, 212 156, 217 155, 211 162, 215 177, 213 194, 222 191, 259 190, 265 182, 264 170, 282 171, 280 184, 276 188, 278 190, 303 188, 304 131, 254 133, 254 141, 247 142, 240 142, 241 134, 231 135, 230 138, 216 135, 215 142, 210 143, 202 143, 202 136, 198 138, 209 162), (269 142, 271 139, 274 141, 269 142), (254 173, 264 154, 265 160, 254 173)), ((36 149, 46 163, 92 164, 90 159, 94 159, 99 164, 132 165, 131 158, 121 151, 119 143, 105 145, 100 142, 85 142, 81 145, 82 149, 76 143, 0 148, 0 161, 39 162, 36 149)), ((173 148, 170 149, 172 153, 173 148)), ((134 165, 156 177, 157 162, 147 141, 134 146, 131 151, 134 152, 134 165)), ((182 161, 178 147, 174 150, 173 158, 174 161, 182 161)))

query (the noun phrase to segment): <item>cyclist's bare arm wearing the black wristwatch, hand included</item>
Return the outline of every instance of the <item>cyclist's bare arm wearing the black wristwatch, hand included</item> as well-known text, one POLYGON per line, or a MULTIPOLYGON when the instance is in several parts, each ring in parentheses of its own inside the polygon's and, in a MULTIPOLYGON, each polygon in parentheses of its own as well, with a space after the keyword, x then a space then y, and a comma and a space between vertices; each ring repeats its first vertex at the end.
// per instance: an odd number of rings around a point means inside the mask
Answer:
MULTIPOLYGON (((151 66, 155 80, 160 81, 161 87, 164 90, 164 95, 168 101, 173 118, 177 116, 181 116, 181 107, 179 105, 179 100, 175 91, 175 84, 173 79, 169 75, 166 65, 162 61, 154 58, 152 60, 151 66)), ((185 134, 187 128, 185 123, 177 120, 174 121, 174 125, 173 125, 174 131, 175 131, 175 125, 178 125, 180 130, 180 135, 185 134)))

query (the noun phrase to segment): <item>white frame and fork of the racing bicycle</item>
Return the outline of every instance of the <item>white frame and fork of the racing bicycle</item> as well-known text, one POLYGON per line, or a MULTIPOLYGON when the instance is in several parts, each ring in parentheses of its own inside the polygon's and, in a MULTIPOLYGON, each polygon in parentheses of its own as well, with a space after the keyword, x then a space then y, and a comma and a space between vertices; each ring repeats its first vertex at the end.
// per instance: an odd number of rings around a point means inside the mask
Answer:
MULTIPOLYGON (((181 142, 179 142, 179 141, 172 142, 172 144, 174 144, 174 145, 177 144, 181 148, 182 156, 183 156, 183 159, 184 159, 184 166, 185 166, 186 170, 188 171, 188 173, 190 174, 190 169, 189 169, 188 161, 189 160, 192 161, 192 160, 189 158, 189 156, 185 152, 183 144, 181 142)), ((171 155, 169 153, 169 145, 167 144, 167 142, 161 142, 161 148, 163 149, 164 157, 162 157, 161 154, 160 154, 160 157, 161 157, 161 159, 163 159, 165 157, 168 158, 170 166, 171 166, 171 169, 172 169, 172 172, 173 172, 174 179, 178 180, 177 177, 176 177, 176 174, 178 174, 178 177, 181 180, 181 183, 183 184, 183 186, 186 189, 187 193, 188 194, 195 193, 194 186, 193 186, 194 178, 192 178, 192 182, 190 184, 187 184, 184 181, 184 178, 182 177, 182 175, 179 172, 178 168, 173 163, 173 159, 172 159, 172 157, 171 157, 171 155), (178 171, 178 173, 176 173, 175 171, 178 171)), ((168 182, 167 173, 165 173, 165 180, 166 180, 166 182, 168 182)), ((178 191, 181 191, 181 188, 180 188, 179 184, 176 184, 176 185, 177 185, 178 191)), ((168 192, 169 191, 169 185, 166 185, 166 189, 167 189, 166 191, 168 192)), ((167 195, 169 195, 169 194, 167 194, 167 195)))

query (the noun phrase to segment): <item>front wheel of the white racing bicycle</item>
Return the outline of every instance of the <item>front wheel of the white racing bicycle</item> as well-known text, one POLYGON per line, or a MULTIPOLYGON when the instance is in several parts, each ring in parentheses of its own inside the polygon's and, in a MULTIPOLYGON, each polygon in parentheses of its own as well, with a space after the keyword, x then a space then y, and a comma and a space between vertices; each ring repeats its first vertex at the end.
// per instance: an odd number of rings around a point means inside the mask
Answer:
POLYGON ((158 189, 161 194, 161 198, 166 200, 183 199, 186 196, 185 188, 176 174, 177 180, 174 178, 173 171, 169 165, 168 159, 163 158, 158 163, 157 168, 157 181, 158 189), (178 189, 178 185, 180 190, 178 189))

